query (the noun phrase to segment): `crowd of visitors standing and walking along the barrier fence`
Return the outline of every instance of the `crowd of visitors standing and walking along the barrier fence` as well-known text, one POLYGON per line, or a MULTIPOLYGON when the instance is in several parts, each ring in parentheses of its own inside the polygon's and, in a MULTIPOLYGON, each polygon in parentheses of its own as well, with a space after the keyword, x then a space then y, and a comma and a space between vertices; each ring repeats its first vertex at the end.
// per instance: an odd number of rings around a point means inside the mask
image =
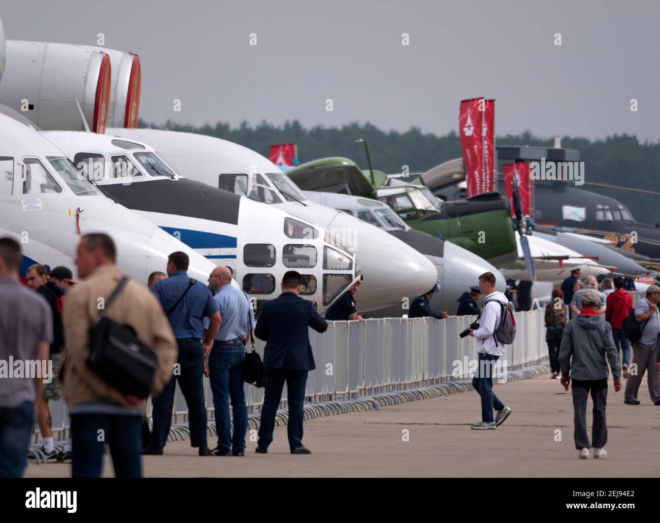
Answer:
MULTIPOLYGON (((234 284, 229 267, 215 267, 205 285, 187 275, 189 258, 183 252, 168 256, 164 272, 149 275, 147 289, 122 275, 114 242, 106 234, 81 236, 75 265, 82 281, 73 279, 67 267, 49 270, 34 264, 26 268, 21 282, 20 244, 0 238, 0 358, 48 363, 50 378, 40 374, 3 381, 0 476, 22 475, 36 419, 42 437, 39 453, 47 461, 71 462, 73 477, 102 475, 106 445, 117 477, 140 477, 142 455, 164 454, 176 382, 187 403, 190 445, 199 456, 244 456, 248 430, 244 373, 246 347, 253 337, 266 341, 265 396, 255 452, 267 453, 273 441, 275 415, 286 383, 290 452, 311 453, 303 444, 306 380, 315 368, 308 329, 322 333, 328 327, 326 320, 362 321, 355 297, 362 277, 323 319, 313 302, 298 296, 303 284, 300 273, 288 271, 280 284, 281 294, 263 304, 255 322, 249 296, 234 284), (112 376, 90 364, 92 348, 98 353, 99 339, 110 343, 98 335, 102 318, 135 337, 136 351, 143 345, 152 355, 147 394, 127 392, 112 376), (213 449, 207 439, 203 376, 210 380, 215 407, 217 444, 213 449), (146 416, 149 396, 151 429, 146 416), (48 401, 61 397, 69 407, 71 429, 66 445, 55 452, 48 401)), ((595 278, 582 282, 579 271, 574 271, 561 288, 552 291, 546 306, 552 378, 560 377, 567 390, 572 382, 580 458, 588 457, 591 448, 586 427, 589 393, 594 403, 594 457, 607 455, 606 359, 615 390, 622 386, 621 377, 627 379, 627 405, 640 404, 637 396, 645 373, 651 401, 660 405, 660 287, 649 286, 634 312, 630 312, 632 297, 625 287, 624 279, 615 277, 605 279, 599 289, 595 278), (640 336, 632 344, 632 364, 624 328, 631 314, 641 326, 640 336)), ((466 331, 477 340, 479 358, 473 387, 480 396, 482 420, 471 425, 475 430, 496 429, 512 413, 492 390, 493 368, 504 353, 498 330, 512 311, 510 300, 495 288, 496 277, 484 273, 479 286, 471 287, 458 300, 459 314, 478 315, 466 331), (482 296, 480 310, 477 302, 482 296)), ((436 285, 414 298, 409 318, 447 318, 446 312, 435 312, 430 306, 437 292, 436 285)))

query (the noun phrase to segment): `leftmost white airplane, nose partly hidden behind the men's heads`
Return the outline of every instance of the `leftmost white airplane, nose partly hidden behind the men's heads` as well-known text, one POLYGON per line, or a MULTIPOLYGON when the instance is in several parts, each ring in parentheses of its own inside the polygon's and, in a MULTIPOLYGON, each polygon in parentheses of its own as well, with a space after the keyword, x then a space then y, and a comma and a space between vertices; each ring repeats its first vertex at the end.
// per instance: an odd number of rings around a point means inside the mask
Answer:
POLYGON ((22 270, 32 263, 73 269, 86 232, 110 234, 117 265, 142 284, 152 271, 164 272, 175 251, 188 254, 195 279, 205 282, 215 267, 82 180, 64 153, 34 129, 0 114, 0 235, 22 243, 22 270))

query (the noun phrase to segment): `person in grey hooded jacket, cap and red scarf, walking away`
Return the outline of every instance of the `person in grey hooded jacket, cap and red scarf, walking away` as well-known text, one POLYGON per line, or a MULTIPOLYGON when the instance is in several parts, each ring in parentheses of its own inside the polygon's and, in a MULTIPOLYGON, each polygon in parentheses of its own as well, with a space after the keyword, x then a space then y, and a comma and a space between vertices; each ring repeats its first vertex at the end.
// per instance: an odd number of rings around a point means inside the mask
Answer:
POLYGON ((614 392, 621 390, 621 367, 612 340, 612 328, 599 314, 601 296, 596 289, 585 289, 581 295, 582 310, 568 322, 559 351, 562 367, 562 385, 568 390, 572 384, 574 408, 574 438, 578 458, 589 458, 593 443, 593 457, 605 458, 607 450, 607 378, 610 363, 614 378, 614 392), (587 436, 587 397, 593 401, 593 427, 591 442, 587 436))

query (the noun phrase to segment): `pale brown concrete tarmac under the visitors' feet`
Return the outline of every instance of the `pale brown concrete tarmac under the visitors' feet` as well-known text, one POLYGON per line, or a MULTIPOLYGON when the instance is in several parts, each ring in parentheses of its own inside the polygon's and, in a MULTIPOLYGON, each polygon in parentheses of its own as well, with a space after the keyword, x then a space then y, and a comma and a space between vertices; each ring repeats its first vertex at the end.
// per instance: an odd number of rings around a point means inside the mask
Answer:
MULTIPOLYGON (((623 391, 609 384, 605 460, 578 460, 573 440, 570 389, 546 374, 494 387, 513 409, 495 431, 473 431, 480 421, 474 391, 412 401, 380 411, 348 413, 306 421, 308 456, 293 456, 286 426, 275 428, 268 454, 255 454, 248 432, 246 456, 201 458, 189 440, 170 442, 164 456, 145 456, 147 477, 640 477, 660 475, 660 407, 649 399, 646 380, 641 405, 624 405, 623 391)), ((625 384, 624 384, 625 386, 625 384)), ((587 420, 591 432, 591 400, 587 420)), ((209 446, 216 442, 209 438, 209 446)), ((31 463, 26 477, 67 477, 68 464, 31 463)), ((106 456, 104 475, 112 477, 106 456)))

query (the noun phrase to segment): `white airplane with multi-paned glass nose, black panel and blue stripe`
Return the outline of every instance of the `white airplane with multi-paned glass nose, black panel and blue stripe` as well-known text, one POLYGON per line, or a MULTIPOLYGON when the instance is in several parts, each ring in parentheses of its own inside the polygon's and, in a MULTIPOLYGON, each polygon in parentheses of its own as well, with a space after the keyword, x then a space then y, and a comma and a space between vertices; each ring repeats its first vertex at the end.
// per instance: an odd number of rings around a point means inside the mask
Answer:
POLYGON ((281 209, 180 177, 149 146, 79 131, 42 131, 79 176, 158 225, 198 254, 234 271, 254 300, 277 297, 282 276, 304 277, 301 295, 324 312, 360 275, 355 257, 325 241, 326 231, 281 209))

